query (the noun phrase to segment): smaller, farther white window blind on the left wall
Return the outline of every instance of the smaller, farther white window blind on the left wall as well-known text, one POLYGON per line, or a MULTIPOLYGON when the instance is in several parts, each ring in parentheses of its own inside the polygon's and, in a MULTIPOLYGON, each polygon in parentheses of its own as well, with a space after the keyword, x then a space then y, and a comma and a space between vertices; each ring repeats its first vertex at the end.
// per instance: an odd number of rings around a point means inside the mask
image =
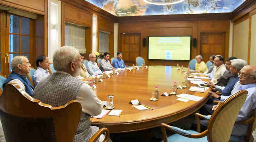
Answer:
POLYGON ((103 54, 104 52, 109 52, 108 48, 109 43, 109 34, 106 32, 99 33, 99 53, 103 54))

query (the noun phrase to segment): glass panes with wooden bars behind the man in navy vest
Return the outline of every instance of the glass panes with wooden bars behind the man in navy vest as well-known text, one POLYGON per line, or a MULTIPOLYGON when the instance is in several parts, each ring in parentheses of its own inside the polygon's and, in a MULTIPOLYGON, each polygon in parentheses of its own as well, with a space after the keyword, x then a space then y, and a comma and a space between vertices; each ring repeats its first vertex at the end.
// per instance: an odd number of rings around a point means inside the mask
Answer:
MULTIPOLYGON (((15 56, 27 56, 30 59, 30 19, 10 15, 9 23, 9 56, 11 65, 15 56)), ((12 71, 10 66, 10 71, 12 71)))

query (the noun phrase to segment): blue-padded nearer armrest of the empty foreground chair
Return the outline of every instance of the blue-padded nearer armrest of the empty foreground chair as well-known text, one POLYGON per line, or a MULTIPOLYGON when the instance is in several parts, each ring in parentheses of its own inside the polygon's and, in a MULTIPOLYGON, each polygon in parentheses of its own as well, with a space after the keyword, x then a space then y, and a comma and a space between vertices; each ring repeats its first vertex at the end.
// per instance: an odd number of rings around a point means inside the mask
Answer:
POLYGON ((177 133, 177 134, 180 134, 180 135, 188 137, 188 138, 203 138, 208 133, 208 130, 205 130, 205 131, 203 131, 202 133, 199 133, 199 134, 192 134, 189 131, 186 131, 186 130, 183 130, 183 129, 180 129, 180 128, 177 128, 177 127, 173 127, 173 126, 167 125, 165 123, 161 123, 161 130, 162 130, 163 135, 164 135, 164 142, 167 142, 167 135, 166 135, 166 131, 165 131, 166 128, 175 132, 175 133, 177 133))

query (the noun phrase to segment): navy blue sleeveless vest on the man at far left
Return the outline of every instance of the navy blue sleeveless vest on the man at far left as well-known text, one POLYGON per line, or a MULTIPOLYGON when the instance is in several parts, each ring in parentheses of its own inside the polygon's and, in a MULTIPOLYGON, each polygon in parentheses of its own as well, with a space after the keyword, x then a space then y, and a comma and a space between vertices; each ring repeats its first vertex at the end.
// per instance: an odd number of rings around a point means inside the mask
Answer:
POLYGON ((3 88, 4 88, 6 83, 8 83, 9 81, 11 81, 13 79, 19 79, 24 84, 25 91, 31 97, 33 97, 33 90, 34 90, 33 85, 28 81, 28 78, 26 76, 20 75, 19 73, 16 73, 16 72, 10 73, 9 77, 5 79, 4 84, 3 84, 3 88))

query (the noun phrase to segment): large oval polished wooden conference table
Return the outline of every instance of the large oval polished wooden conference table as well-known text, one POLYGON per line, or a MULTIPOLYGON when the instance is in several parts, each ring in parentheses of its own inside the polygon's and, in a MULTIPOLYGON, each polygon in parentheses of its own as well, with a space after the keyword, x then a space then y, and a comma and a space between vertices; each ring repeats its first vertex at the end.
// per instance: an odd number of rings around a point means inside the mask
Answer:
POLYGON ((104 116, 102 119, 91 118, 92 125, 107 127, 111 133, 139 131, 159 126, 161 123, 171 123, 186 117, 207 101, 205 93, 177 89, 177 94, 188 93, 204 97, 201 101, 178 101, 176 95, 161 96, 164 92, 172 92, 174 81, 182 86, 184 71, 171 66, 148 66, 132 71, 119 71, 119 75, 111 75, 96 84, 95 93, 102 101, 107 101, 107 95, 114 95, 115 109, 123 109, 120 117, 104 116), (155 86, 159 88, 159 100, 150 101, 155 86), (138 110, 129 104, 129 101, 138 99, 142 104, 154 108, 153 110, 138 110))

